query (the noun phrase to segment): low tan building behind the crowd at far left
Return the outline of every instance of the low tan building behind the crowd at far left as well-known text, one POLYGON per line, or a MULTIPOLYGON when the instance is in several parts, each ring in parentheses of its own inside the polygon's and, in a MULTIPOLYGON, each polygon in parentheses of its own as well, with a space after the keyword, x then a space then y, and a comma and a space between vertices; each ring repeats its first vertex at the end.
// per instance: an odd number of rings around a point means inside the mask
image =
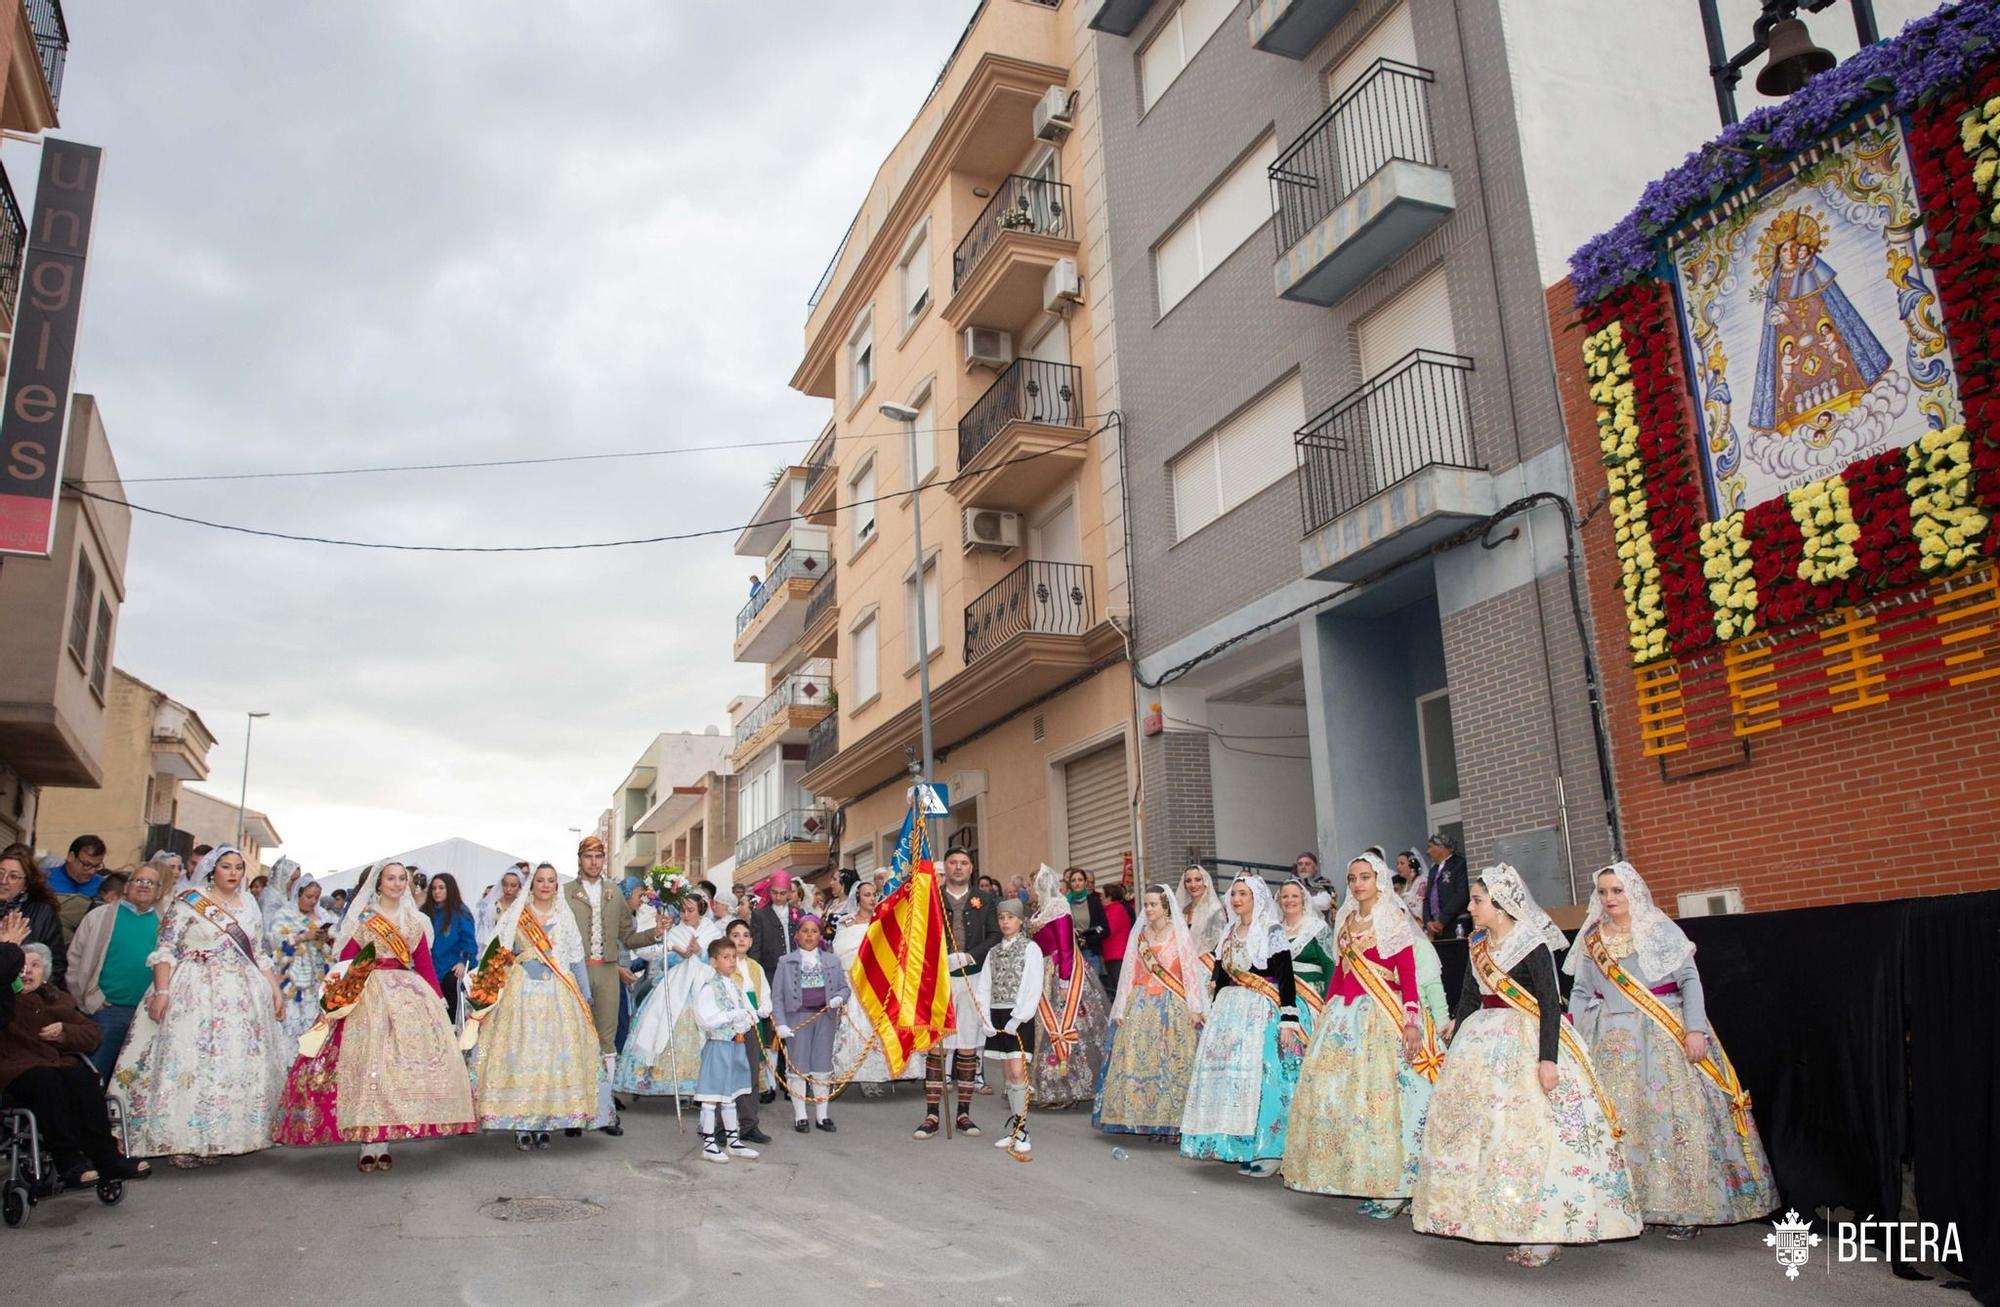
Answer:
MULTIPOLYGON (((14 560, 8 560, 6 570, 12 568, 14 560)), ((92 693, 98 695, 96 689, 92 693)), ((200 713, 124 667, 112 667, 100 703, 104 725, 96 783, 42 791, 36 851, 62 853, 70 839, 98 835, 106 867, 130 867, 156 849, 186 855, 202 841, 186 821, 188 793, 182 785, 208 779, 208 749, 216 737, 200 713)), ((234 817, 232 805, 232 835, 234 817)))

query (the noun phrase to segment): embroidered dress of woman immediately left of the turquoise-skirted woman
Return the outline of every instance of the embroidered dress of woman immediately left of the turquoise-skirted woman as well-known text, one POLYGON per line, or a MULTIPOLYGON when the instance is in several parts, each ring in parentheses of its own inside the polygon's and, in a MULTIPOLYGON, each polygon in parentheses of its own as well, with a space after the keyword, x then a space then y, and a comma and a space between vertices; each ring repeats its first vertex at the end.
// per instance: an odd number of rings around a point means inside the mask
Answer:
POLYGON ((1106 1133, 1180 1133, 1200 1033, 1188 999, 1168 979, 1186 991, 1190 983, 1208 985, 1208 977, 1196 959, 1180 955, 1176 935, 1184 939, 1186 931, 1168 931, 1160 939, 1140 935, 1126 949, 1130 993, 1110 1033, 1104 1083, 1090 1113, 1090 1123, 1106 1133))

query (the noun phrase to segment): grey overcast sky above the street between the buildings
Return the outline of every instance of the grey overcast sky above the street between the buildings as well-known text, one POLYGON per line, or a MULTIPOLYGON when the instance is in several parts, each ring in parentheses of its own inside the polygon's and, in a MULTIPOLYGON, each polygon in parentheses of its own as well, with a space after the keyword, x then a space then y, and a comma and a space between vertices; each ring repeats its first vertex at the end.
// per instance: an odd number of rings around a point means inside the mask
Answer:
MULTIPOLYGON (((826 404, 806 296, 972 0, 68 0, 104 146, 78 350, 134 504, 420 544, 742 522, 826 404), (158 484, 788 440, 528 470, 158 484)), ((16 176, 32 152, 6 148, 16 176)), ((730 538, 380 554, 140 516, 118 665, 208 789, 332 869, 448 835, 566 863, 656 731, 726 727, 730 538)))

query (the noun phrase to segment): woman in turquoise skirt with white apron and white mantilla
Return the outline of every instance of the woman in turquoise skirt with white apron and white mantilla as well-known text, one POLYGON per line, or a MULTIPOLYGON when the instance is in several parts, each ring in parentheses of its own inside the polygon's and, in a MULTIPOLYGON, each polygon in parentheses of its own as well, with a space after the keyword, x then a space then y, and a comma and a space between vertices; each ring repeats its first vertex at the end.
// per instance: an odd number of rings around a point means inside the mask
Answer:
POLYGON ((1180 1155, 1278 1173, 1306 1035, 1278 903, 1264 877, 1230 885, 1232 921, 1214 959, 1216 995, 1194 1051, 1180 1155))

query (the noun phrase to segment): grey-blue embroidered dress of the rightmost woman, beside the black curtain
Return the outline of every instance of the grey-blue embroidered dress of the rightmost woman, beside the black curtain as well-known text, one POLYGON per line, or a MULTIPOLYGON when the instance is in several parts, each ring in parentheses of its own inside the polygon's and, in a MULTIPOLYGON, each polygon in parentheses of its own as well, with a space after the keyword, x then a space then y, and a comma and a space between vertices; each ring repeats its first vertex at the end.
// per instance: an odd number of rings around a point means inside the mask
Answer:
MULTIPOLYGON (((1666 975, 1650 975, 1636 951, 1610 953, 1684 1029, 1708 1031, 1692 949, 1688 961, 1666 975)), ((1618 1107, 1632 1189, 1646 1223, 1734 1225, 1776 1211, 1778 1187, 1748 1107, 1738 1129, 1728 1095, 1598 969, 1588 935, 1578 937, 1572 957, 1570 1015, 1576 1035, 1590 1047, 1598 1083, 1618 1107)), ((1710 1057, 1728 1067, 1720 1043, 1710 1039, 1708 1047, 1710 1057)))

